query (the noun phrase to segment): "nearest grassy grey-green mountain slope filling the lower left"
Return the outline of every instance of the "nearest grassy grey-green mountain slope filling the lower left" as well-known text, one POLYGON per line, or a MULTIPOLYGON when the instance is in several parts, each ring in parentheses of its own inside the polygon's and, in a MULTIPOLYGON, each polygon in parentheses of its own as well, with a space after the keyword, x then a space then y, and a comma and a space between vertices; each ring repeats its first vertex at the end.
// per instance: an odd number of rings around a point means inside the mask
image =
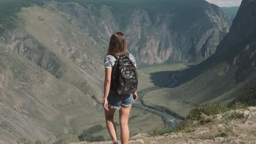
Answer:
POLYGON ((0 48, 0 59, 0 141, 53 143, 72 130, 70 120, 98 111, 88 95, 25 57, 0 48))

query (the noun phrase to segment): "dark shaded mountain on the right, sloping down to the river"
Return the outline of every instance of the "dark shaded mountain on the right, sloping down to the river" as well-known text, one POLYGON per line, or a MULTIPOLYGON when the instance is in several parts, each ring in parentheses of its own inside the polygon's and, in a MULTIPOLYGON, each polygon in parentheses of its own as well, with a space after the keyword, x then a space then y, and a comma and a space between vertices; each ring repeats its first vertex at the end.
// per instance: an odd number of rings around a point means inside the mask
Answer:
POLYGON ((145 94, 147 105, 161 105, 180 115, 191 106, 243 100, 255 105, 256 0, 243 0, 230 32, 205 61, 176 74, 179 85, 145 94), (158 96, 155 100, 154 96, 158 96), (182 109, 182 111, 181 111, 182 109))

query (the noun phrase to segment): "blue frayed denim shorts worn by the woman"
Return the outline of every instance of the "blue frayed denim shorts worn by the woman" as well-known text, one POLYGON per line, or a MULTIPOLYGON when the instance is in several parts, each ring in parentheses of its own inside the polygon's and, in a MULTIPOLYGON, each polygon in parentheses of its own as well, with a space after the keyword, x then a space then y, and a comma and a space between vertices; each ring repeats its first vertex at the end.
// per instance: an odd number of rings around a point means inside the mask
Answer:
POLYGON ((124 105, 125 107, 129 107, 133 103, 134 103, 134 99, 132 94, 128 94, 128 95, 118 95, 116 93, 108 94, 108 105, 115 111, 119 111, 121 109, 121 105, 124 105))

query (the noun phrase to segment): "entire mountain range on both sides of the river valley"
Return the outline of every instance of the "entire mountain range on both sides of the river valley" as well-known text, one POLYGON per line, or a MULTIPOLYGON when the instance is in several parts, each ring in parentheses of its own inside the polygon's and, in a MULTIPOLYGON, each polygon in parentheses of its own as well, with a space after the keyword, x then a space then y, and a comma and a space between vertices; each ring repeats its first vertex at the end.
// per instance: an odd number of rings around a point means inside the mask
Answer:
MULTIPOLYGON (((0 138, 50 143, 104 124, 97 116, 103 115, 103 59, 116 31, 125 33, 138 69, 203 61, 176 73, 175 88, 144 95, 146 105, 184 117, 193 105, 241 98, 255 74, 253 6, 255 0, 244 0, 231 26, 204 0, 0 1, 0 138)), ((144 111, 133 124, 149 131, 162 123, 158 115, 144 118, 149 115, 144 111)))

